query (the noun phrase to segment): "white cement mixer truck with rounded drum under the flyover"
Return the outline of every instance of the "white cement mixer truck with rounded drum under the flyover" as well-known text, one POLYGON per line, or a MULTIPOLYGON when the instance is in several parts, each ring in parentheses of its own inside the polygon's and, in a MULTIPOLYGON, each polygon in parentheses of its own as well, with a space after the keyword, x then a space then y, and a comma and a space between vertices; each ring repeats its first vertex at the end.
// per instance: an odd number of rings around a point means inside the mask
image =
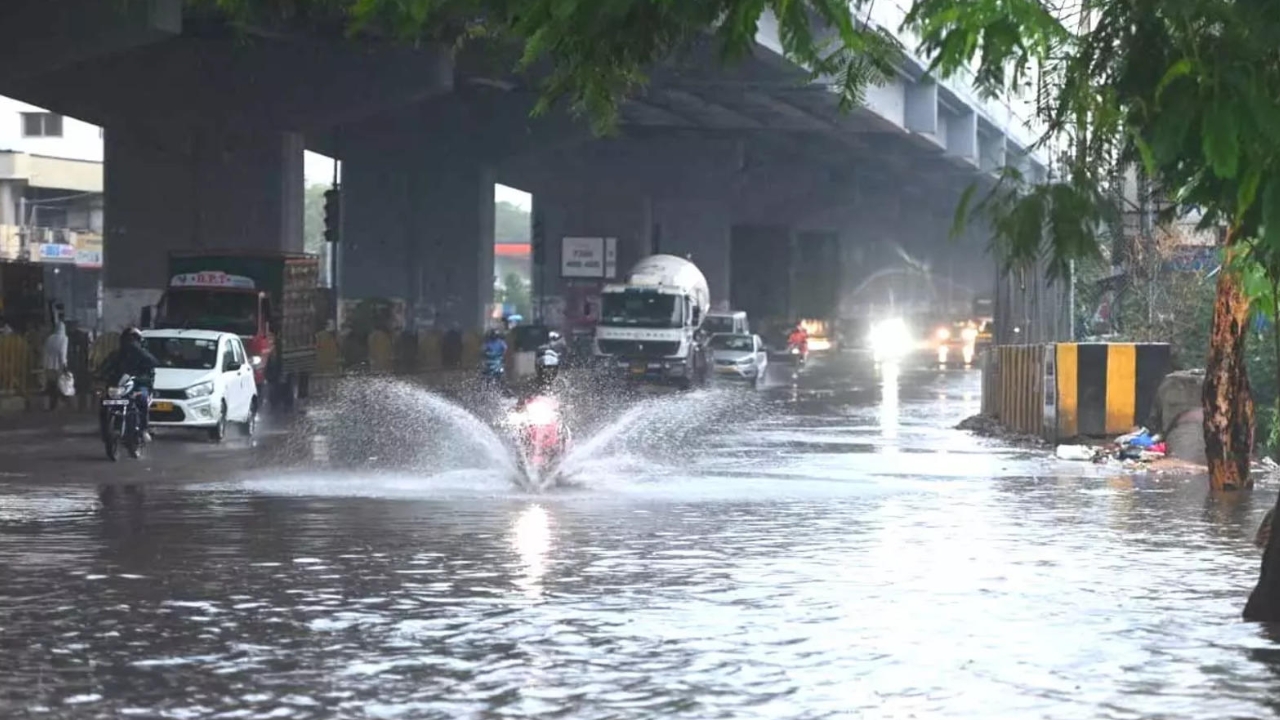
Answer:
POLYGON ((650 255, 600 293, 596 359, 632 380, 704 384, 710 378, 701 325, 710 305, 703 272, 684 258, 650 255))

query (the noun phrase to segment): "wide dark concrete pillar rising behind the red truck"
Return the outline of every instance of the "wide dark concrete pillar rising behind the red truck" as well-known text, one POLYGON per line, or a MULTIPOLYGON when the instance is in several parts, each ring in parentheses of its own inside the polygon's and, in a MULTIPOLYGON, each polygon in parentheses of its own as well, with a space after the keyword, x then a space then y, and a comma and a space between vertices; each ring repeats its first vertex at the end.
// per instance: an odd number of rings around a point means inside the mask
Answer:
POLYGON ((154 304, 175 250, 302 251, 302 137, 119 123, 104 147, 104 323, 154 304))

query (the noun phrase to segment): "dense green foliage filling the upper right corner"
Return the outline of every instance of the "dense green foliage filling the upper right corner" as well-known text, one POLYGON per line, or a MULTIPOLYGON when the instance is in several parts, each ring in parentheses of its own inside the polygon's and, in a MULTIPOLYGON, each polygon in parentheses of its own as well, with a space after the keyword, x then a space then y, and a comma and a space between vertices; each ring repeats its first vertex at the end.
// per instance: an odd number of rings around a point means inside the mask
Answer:
POLYGON ((1080 213, 1119 211, 1111 173, 1128 163, 1165 191, 1166 219, 1199 213, 1202 227, 1280 245, 1280 3, 1079 0, 1068 15, 1042 0, 916 0, 908 22, 942 76, 975 64, 1002 92, 1038 74, 1042 142, 1070 138, 1047 188, 1019 197, 1027 187, 1006 178, 973 204, 1019 218, 995 223, 1011 258, 1060 270, 1094 252, 1101 224, 1080 213))

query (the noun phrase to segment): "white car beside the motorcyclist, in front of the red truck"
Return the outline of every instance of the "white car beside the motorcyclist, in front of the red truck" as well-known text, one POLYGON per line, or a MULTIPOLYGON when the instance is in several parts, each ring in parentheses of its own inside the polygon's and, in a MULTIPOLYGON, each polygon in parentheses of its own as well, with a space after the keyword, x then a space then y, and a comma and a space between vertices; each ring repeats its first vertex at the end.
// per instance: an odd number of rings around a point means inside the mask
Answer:
POLYGON ((257 429, 257 384, 241 338, 216 331, 146 331, 143 346, 160 360, 151 392, 151 427, 204 429, 215 441, 237 423, 257 429))

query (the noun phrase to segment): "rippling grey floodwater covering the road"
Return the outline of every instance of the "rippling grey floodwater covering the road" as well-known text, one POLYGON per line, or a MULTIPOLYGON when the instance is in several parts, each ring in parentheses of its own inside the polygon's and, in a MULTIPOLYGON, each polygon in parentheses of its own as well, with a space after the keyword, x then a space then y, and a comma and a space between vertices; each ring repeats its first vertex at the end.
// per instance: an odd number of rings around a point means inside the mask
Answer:
POLYGON ((17 462, 0 714, 1275 715, 1280 646, 1238 621, 1271 487, 1222 505, 974 439, 948 428, 975 373, 772 384, 580 404, 573 484, 540 495, 475 427, 396 452, 402 419, 360 457, 156 443, 172 471, 105 495, 17 462))

